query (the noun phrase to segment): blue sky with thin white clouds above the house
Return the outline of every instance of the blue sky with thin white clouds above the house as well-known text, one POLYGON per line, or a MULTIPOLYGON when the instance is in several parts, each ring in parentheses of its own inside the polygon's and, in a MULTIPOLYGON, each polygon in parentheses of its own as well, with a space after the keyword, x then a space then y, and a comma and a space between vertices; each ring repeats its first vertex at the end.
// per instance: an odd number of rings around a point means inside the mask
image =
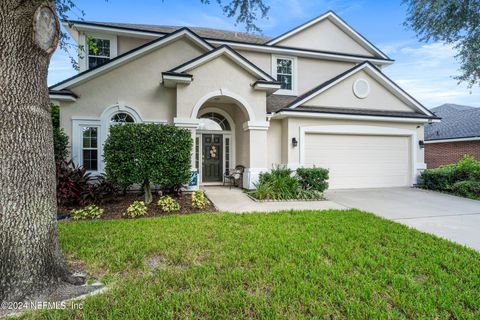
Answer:
MULTIPOLYGON (((226 0, 224 0, 226 1, 226 0)), ((443 103, 480 107, 480 88, 468 89, 452 79, 457 74, 455 51, 441 43, 420 43, 415 34, 403 26, 405 6, 401 1, 378 0, 267 0, 268 19, 258 21, 263 34, 276 36, 334 10, 353 28, 387 53, 396 62, 384 72, 401 87, 431 108, 443 103)), ((76 0, 85 11, 85 20, 144 24, 204 26, 244 31, 233 18, 222 14, 216 0, 76 0)), ((72 19, 78 19, 76 13, 72 19)), ((76 73, 68 55, 55 52, 49 70, 50 85, 76 73)))

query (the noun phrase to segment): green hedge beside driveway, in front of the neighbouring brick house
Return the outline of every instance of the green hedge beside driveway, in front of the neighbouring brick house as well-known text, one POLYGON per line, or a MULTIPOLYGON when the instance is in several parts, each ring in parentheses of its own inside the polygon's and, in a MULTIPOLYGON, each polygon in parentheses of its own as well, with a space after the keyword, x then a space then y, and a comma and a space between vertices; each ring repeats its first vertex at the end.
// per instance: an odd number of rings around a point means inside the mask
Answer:
POLYGON ((424 189, 477 199, 480 197, 480 161, 465 155, 457 163, 423 171, 420 181, 420 187, 424 189))

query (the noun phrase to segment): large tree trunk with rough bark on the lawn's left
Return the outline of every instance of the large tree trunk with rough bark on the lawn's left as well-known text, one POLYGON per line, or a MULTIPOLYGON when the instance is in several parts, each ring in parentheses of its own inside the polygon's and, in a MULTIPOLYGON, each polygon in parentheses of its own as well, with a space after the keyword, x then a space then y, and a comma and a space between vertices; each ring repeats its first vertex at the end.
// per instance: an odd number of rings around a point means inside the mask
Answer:
POLYGON ((0 301, 21 301, 68 275, 56 226, 50 54, 32 35, 40 4, 0 0, 0 301))

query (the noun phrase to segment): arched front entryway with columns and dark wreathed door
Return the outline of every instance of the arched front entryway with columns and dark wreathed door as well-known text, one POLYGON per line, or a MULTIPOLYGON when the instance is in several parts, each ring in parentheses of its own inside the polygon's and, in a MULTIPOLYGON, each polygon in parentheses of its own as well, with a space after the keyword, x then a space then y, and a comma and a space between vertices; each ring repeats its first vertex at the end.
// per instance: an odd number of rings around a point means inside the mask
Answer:
POLYGON ((174 123, 192 132, 192 168, 197 170, 200 184, 221 184, 227 170, 241 165, 245 167, 243 187, 252 189, 266 170, 266 106, 258 97, 248 98, 219 89, 205 94, 193 106, 180 103, 174 123))

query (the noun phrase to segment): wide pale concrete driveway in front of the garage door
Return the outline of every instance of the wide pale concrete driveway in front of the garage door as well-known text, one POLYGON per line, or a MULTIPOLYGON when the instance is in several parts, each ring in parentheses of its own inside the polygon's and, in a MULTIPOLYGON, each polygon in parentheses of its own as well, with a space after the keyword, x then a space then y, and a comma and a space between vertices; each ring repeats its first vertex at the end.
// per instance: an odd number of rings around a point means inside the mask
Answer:
POLYGON ((415 188, 330 190, 326 196, 480 250, 480 201, 415 188))

